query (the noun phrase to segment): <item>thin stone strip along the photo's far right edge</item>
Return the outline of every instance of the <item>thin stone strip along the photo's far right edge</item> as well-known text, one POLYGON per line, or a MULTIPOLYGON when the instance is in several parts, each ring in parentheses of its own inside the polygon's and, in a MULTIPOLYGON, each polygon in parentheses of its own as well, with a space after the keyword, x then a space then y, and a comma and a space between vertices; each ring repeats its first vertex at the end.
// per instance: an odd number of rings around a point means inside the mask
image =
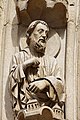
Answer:
POLYGON ((80 0, 77 3, 77 120, 80 119, 80 0))

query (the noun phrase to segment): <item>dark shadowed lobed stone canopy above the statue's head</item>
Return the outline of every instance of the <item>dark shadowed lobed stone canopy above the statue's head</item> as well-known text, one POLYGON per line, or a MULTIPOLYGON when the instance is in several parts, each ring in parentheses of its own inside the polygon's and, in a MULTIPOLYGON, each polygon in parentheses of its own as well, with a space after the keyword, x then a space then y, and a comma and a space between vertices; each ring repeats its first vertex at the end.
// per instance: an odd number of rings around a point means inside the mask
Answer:
POLYGON ((28 26, 33 20, 42 19, 52 28, 65 28, 67 4, 66 0, 18 0, 16 10, 19 24, 28 26))

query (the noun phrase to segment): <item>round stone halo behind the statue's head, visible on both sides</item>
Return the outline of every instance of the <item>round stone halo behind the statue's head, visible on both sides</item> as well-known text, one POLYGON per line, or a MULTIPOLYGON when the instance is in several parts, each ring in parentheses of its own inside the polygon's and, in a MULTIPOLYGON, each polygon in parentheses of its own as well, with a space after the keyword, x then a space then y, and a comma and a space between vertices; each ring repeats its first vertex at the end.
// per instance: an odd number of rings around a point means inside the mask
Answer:
MULTIPOLYGON (((20 49, 23 50, 26 47, 26 37, 21 37, 20 38, 20 49)), ((46 51, 45 54, 48 56, 54 56, 57 57, 61 49, 61 41, 60 41, 60 36, 58 33, 54 30, 51 29, 49 33, 49 39, 47 42, 46 46, 46 51)))

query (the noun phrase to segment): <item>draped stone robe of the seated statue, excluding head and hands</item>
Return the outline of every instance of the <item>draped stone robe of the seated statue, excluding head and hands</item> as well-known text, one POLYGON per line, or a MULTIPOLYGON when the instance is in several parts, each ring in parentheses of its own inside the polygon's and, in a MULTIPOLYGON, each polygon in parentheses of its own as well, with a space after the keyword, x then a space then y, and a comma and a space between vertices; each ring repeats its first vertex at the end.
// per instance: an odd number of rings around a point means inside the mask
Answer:
POLYGON ((64 84, 61 78, 60 68, 53 56, 44 55, 37 59, 40 62, 39 68, 27 67, 23 70, 23 63, 32 58, 28 47, 16 53, 12 57, 9 73, 9 88, 12 96, 12 107, 14 111, 26 109, 27 102, 30 99, 39 100, 42 105, 50 105, 56 101, 65 101, 64 84), (51 87, 49 90, 43 90, 38 94, 31 93, 28 90, 29 83, 35 80, 47 80, 51 87), (54 95, 53 94, 54 89, 54 95))

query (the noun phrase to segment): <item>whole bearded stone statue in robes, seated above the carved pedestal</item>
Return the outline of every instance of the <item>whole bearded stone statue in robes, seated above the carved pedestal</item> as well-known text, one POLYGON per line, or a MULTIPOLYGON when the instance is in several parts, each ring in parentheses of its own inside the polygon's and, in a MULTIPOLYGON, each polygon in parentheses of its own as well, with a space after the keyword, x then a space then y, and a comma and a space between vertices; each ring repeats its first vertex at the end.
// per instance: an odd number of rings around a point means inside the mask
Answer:
POLYGON ((65 102, 60 68, 53 56, 45 55, 48 33, 46 22, 32 22, 26 31, 27 47, 12 57, 9 87, 16 115, 28 111, 30 101, 50 109, 56 104, 62 108, 65 102))

